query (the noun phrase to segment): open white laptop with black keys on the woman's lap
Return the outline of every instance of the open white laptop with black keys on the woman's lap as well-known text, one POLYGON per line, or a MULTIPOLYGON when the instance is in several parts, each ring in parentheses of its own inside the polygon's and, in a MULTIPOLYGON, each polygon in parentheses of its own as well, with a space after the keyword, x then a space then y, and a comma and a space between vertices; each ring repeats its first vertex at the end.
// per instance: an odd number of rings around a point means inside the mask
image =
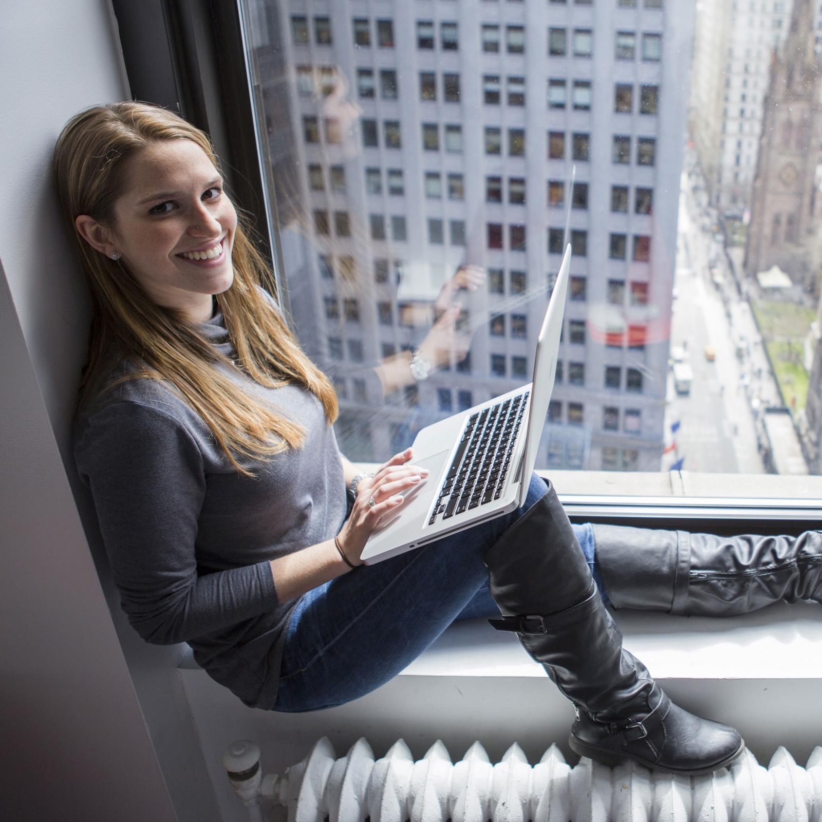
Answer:
POLYGON ((539 331, 533 382, 418 433, 412 463, 430 473, 374 530, 360 555, 366 565, 524 504, 554 387, 569 268, 570 245, 539 331))

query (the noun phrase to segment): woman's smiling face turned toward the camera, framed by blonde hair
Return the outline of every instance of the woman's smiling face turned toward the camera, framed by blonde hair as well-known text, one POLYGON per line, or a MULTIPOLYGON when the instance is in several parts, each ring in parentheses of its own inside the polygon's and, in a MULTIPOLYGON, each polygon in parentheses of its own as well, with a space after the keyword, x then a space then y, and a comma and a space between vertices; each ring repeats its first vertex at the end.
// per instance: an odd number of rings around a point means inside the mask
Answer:
POLYGON ((127 160, 109 227, 122 264, 158 305, 210 319, 233 283, 237 212, 208 155, 186 139, 155 141, 127 160))

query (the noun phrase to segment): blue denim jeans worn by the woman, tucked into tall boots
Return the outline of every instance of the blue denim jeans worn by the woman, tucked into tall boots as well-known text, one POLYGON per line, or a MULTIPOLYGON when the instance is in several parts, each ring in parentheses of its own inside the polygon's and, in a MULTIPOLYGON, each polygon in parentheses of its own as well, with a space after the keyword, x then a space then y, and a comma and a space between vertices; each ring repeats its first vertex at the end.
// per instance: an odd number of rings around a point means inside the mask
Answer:
MULTIPOLYGON (((274 709, 311 711, 356 700, 395 677, 453 621, 499 616, 483 556, 545 492, 533 476, 522 508, 305 594, 286 630, 274 709)), ((574 529, 602 590, 593 531, 588 524, 574 529)))

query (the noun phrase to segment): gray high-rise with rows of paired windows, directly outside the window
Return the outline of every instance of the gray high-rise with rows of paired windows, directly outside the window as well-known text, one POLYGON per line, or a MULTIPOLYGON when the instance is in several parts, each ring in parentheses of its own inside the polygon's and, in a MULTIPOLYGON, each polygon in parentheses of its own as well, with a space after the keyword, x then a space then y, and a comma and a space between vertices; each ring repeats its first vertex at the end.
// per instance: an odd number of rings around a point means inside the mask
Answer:
POLYGON ((659 469, 693 20, 692 0, 279 4, 259 79, 289 87, 280 277, 350 456, 528 381, 567 239, 538 466, 659 469), (485 282, 451 294, 464 265, 485 282), (450 353, 414 379, 421 346, 450 353))

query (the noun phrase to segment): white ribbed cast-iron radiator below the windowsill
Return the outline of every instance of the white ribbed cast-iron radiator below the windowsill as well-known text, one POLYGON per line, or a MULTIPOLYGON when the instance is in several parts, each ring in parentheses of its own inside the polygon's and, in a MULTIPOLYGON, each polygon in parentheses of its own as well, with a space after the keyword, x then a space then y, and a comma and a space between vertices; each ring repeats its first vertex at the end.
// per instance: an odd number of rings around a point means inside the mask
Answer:
POLYGON ((288 807, 289 822, 822 822, 822 747, 806 768, 780 747, 769 766, 746 752, 701 777, 566 763, 552 745, 530 765, 518 745, 492 764, 479 742, 452 763, 436 742, 422 760, 399 740, 380 760, 360 739, 337 759, 323 738, 282 777, 262 776, 260 750, 238 741, 223 764, 252 822, 261 798, 288 807))

